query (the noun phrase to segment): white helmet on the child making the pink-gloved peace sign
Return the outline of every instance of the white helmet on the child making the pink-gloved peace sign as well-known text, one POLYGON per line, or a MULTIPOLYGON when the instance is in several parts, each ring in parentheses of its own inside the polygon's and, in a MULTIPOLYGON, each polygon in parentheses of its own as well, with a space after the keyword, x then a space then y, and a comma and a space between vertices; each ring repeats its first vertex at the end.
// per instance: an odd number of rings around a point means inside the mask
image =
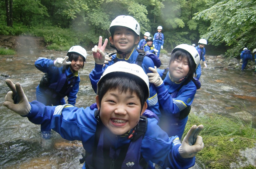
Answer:
POLYGON ((109 27, 109 32, 111 33, 111 27, 113 26, 123 26, 130 28, 133 30, 137 35, 140 35, 140 24, 131 16, 125 16, 125 15, 120 15, 116 17, 110 24, 109 27))

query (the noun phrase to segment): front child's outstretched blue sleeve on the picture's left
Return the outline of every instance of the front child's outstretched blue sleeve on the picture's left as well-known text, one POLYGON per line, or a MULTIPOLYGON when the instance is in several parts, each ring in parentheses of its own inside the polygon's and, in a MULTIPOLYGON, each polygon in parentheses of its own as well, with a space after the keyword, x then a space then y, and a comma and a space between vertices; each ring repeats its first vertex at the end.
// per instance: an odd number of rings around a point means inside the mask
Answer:
POLYGON ((77 108, 69 105, 45 106, 33 101, 28 120, 34 124, 47 124, 67 140, 88 141, 94 138, 96 120, 94 109, 77 108))

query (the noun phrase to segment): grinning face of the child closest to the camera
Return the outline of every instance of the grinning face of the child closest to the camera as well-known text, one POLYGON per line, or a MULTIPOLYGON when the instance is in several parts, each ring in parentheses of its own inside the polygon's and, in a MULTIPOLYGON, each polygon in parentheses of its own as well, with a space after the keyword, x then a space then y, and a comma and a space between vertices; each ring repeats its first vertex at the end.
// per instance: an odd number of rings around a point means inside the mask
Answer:
MULTIPOLYGON (((98 95, 96 102, 102 123, 115 135, 130 131, 140 120, 141 102, 135 93, 119 93, 118 89, 109 90, 103 96, 100 106, 98 95)), ((145 102, 142 113, 146 108, 145 102)))

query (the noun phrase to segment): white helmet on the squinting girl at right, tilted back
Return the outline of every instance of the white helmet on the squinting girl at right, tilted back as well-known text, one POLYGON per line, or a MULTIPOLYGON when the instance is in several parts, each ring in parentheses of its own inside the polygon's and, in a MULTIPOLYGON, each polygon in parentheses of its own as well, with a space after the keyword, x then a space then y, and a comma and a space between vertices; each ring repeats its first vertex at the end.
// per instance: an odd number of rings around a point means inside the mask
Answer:
POLYGON ((180 44, 172 50, 172 54, 180 49, 185 50, 186 52, 188 52, 190 54, 190 56, 194 59, 194 62, 196 63, 196 68, 197 68, 197 66, 199 65, 199 62, 200 62, 200 56, 199 56, 196 48, 192 45, 180 44))

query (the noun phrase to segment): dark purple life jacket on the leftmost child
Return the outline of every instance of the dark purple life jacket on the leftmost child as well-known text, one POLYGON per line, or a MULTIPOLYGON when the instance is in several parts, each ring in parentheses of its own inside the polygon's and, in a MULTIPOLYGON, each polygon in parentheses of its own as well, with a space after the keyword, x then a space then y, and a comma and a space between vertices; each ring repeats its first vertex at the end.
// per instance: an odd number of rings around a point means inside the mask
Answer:
POLYGON ((39 87, 44 88, 45 92, 50 95, 51 98, 61 99, 67 96, 75 84, 75 79, 73 74, 67 76, 65 71, 66 66, 63 66, 58 81, 51 84, 48 74, 45 73, 40 81, 39 87))

